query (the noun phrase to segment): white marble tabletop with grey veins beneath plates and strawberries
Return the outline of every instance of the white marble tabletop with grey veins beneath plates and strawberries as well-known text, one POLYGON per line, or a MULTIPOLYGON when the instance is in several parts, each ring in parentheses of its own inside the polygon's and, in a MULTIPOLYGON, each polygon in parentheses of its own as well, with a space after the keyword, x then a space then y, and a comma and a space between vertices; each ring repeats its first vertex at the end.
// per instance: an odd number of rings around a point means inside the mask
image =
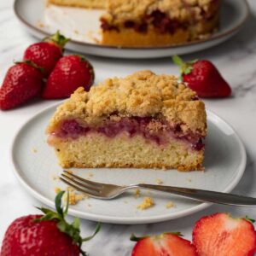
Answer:
MULTIPOLYGON (((256 3, 249 1, 252 15, 247 26, 230 41, 201 53, 188 55, 188 59, 206 58, 213 61, 233 89, 233 96, 224 100, 207 100, 207 108, 232 125, 247 148, 247 168, 234 192, 256 196, 256 3)), ((36 41, 21 29, 15 18, 13 1, 0 2, 0 80, 13 60, 20 60, 28 44, 36 41)), ((96 82, 113 75, 125 75, 138 69, 150 68, 156 73, 177 73, 170 58, 148 61, 108 60, 88 57, 96 70, 96 82)), ((0 243, 9 224, 22 215, 38 212, 41 203, 33 199, 16 181, 9 165, 10 143, 21 124, 35 112, 55 102, 33 102, 23 108, 0 112, 0 243)), ((36 170, 35 170, 36 172, 36 170)), ((91 256, 129 255, 132 232, 137 235, 181 231, 190 238, 195 220, 213 212, 231 212, 235 216, 256 218, 256 208, 212 206, 190 217, 160 224, 114 225, 102 224, 102 231, 84 245, 91 256)), ((83 235, 90 234, 95 224, 82 221, 83 235)))

